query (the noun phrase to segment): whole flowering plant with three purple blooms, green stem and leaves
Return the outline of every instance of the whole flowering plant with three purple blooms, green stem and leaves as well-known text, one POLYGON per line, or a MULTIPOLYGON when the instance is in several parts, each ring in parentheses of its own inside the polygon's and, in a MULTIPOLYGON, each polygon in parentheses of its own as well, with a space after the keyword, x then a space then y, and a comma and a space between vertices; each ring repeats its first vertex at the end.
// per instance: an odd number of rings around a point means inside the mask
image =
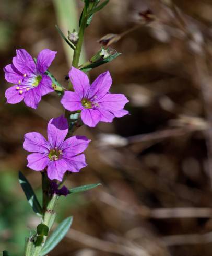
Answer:
MULTIPOLYGON (((66 172, 79 172, 87 165, 84 151, 90 139, 85 136, 72 136, 73 132, 83 124, 95 127, 100 121, 112 122, 115 117, 128 114, 128 111, 124 110, 127 98, 123 94, 109 92, 112 78, 108 71, 100 74, 91 85, 86 74, 92 68, 113 60, 120 53, 102 48, 88 62, 79 66, 84 31, 93 14, 101 10, 108 0, 99 2, 100 0, 84 0, 79 32, 68 31, 68 39, 57 27, 63 39, 74 50, 68 89, 61 86, 48 70, 56 55, 55 51, 49 49, 42 50, 37 59, 33 59, 24 49, 17 50, 12 64, 4 68, 7 82, 15 84, 5 92, 7 103, 16 104, 23 100, 26 106, 36 109, 42 96, 60 91, 64 107, 64 115, 52 118, 48 123, 48 141, 38 132, 29 132, 24 137, 23 148, 31 152, 27 156, 27 167, 41 173, 43 194, 41 205, 28 180, 19 172, 19 182, 27 200, 41 218, 37 229, 26 239, 25 256, 48 254, 66 235, 72 224, 72 217, 63 220, 49 237, 56 217, 56 202, 60 196, 68 196, 70 193, 82 192, 100 185, 61 188, 66 172)), ((8 255, 6 251, 3 254, 8 255)))

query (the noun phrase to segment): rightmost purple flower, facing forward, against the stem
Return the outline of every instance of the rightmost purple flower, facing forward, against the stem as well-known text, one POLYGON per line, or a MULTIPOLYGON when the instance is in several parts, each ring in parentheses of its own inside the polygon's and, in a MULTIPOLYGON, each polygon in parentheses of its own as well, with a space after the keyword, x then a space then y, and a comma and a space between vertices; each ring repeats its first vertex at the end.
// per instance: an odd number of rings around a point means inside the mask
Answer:
POLYGON ((66 91, 61 103, 69 111, 81 110, 81 119, 90 127, 99 121, 112 122, 114 117, 128 114, 124 105, 128 102, 123 94, 110 94, 112 84, 110 73, 104 72, 91 84, 87 75, 72 67, 69 72, 73 91, 66 91))

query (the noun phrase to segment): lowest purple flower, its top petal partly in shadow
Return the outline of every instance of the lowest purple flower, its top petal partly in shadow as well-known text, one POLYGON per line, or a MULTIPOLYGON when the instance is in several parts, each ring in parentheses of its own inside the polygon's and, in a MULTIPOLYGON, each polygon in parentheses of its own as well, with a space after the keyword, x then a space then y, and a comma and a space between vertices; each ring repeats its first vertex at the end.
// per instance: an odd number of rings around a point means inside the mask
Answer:
POLYGON ((62 181, 66 171, 79 172, 85 167, 85 155, 81 154, 90 140, 85 136, 73 136, 65 139, 68 122, 65 118, 53 118, 48 124, 48 141, 37 132, 25 134, 23 148, 29 152, 28 167, 41 171, 47 167, 48 177, 62 181))

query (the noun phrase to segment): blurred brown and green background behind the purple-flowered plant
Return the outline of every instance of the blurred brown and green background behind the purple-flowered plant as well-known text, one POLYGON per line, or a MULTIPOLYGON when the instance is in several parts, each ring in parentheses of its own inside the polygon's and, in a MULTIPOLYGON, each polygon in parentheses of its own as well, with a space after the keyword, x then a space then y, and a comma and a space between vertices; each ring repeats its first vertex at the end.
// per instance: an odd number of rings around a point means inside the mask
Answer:
MULTIPOLYGON (((23 171, 41 198, 41 176, 26 167, 23 136, 46 125, 63 109, 55 93, 36 111, 6 104, 3 67, 15 50, 32 56, 57 51, 50 67, 67 86, 72 50, 64 34, 78 29, 83 2, 0 2, 0 250, 23 255, 25 237, 36 227, 18 183, 23 171)), ((67 187, 102 183, 61 198, 57 221, 73 215, 72 229, 50 255, 209 256, 212 250, 212 3, 210 0, 110 0, 86 29, 88 60, 108 33, 126 33, 111 46, 122 55, 90 72, 109 70, 112 92, 124 93, 131 113, 77 134, 92 139, 88 166, 67 177, 67 187)))

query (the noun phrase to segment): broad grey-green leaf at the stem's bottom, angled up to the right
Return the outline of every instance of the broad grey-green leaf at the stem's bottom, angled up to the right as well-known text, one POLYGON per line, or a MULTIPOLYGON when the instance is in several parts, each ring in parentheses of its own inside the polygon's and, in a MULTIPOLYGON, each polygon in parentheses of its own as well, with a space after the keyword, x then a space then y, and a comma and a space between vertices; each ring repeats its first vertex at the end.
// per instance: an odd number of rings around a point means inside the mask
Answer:
POLYGON ((60 223, 57 228, 54 230, 52 235, 46 240, 43 249, 41 250, 41 256, 48 254, 55 246, 64 238, 68 232, 70 226, 72 225, 73 217, 68 217, 60 223))

